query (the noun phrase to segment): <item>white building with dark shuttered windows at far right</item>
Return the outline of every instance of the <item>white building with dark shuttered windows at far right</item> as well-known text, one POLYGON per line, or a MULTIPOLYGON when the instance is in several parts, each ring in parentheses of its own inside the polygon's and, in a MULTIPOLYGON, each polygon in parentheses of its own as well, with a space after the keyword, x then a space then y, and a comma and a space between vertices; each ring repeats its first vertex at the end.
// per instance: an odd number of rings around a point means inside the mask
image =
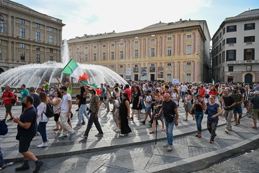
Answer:
POLYGON ((213 35, 213 79, 259 81, 259 9, 224 19, 213 35))

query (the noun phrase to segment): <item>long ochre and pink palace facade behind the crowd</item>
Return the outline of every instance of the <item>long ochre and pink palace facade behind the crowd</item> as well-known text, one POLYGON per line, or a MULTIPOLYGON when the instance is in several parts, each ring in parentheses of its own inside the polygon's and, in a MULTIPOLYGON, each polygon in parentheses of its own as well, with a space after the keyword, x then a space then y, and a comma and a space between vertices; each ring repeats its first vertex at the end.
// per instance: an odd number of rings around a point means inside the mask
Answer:
POLYGON ((207 82, 209 42, 206 21, 158 23, 124 33, 84 35, 68 40, 76 62, 108 67, 125 80, 207 82))

